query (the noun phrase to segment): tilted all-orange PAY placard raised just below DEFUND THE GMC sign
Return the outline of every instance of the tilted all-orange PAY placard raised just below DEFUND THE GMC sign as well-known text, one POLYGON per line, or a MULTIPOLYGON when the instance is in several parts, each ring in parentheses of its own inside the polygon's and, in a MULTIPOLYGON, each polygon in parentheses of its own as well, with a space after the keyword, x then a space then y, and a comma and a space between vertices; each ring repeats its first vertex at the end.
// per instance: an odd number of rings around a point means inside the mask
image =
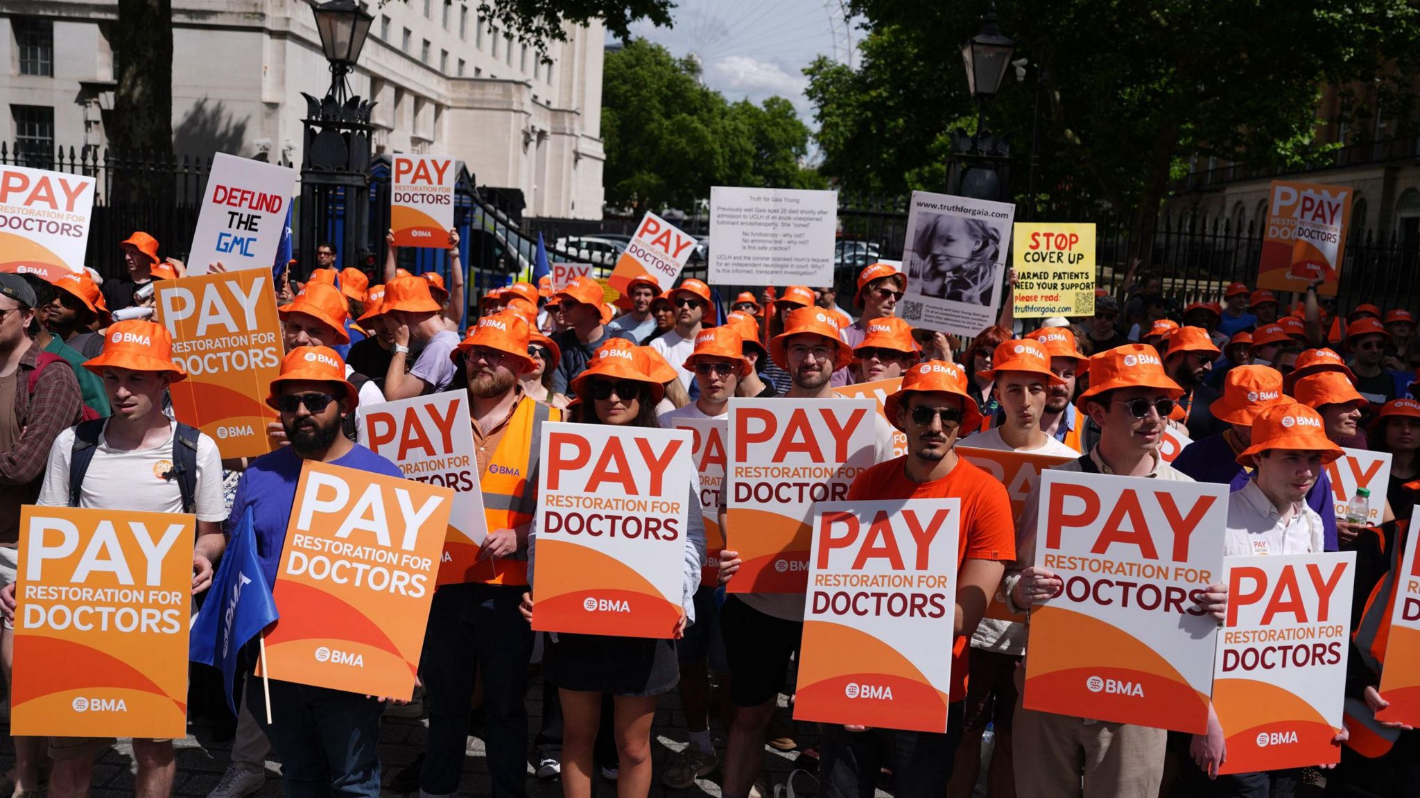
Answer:
POLYGON ((217 442, 223 457, 273 449, 267 403, 281 373, 281 319, 271 270, 248 268, 158 281, 158 319, 187 379, 169 388, 178 420, 217 442))

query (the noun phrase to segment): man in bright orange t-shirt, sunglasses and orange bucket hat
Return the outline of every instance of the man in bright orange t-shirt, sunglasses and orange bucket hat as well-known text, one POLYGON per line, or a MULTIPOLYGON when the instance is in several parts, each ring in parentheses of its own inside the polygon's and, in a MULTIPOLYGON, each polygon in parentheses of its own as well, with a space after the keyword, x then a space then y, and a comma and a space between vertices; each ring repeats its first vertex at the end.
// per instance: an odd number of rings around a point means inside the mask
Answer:
POLYGON ((819 775, 826 798, 872 798, 882 767, 892 770, 897 795, 946 794, 961 740, 967 640, 995 594, 1005 562, 1015 557, 1005 487, 954 450, 958 432, 981 423, 961 368, 941 361, 913 366, 883 410, 907 434, 907 454, 859 474, 848 488, 848 501, 961 500, 947 731, 825 724, 819 775))

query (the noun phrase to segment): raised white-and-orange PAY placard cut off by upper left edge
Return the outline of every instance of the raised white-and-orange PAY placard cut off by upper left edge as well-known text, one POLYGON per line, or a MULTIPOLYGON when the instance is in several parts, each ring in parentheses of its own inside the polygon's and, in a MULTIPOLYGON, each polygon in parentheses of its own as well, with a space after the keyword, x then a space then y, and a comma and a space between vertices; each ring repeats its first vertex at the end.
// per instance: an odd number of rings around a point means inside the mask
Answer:
POLYGON ((94 177, 0 166, 0 271, 84 271, 92 213, 94 177))

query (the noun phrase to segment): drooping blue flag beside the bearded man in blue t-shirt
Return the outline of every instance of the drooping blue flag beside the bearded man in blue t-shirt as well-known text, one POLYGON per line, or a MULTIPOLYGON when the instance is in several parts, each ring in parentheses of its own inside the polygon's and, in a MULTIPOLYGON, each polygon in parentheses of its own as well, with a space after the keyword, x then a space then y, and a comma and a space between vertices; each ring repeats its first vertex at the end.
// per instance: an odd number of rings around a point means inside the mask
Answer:
POLYGON ((197 612, 187 642, 187 659, 222 670, 227 707, 237 713, 231 696, 237 673, 250 670, 243 662, 246 645, 277 619, 275 599, 257 559, 257 532, 251 510, 241 515, 237 532, 227 542, 217 575, 212 579, 207 601, 197 612))

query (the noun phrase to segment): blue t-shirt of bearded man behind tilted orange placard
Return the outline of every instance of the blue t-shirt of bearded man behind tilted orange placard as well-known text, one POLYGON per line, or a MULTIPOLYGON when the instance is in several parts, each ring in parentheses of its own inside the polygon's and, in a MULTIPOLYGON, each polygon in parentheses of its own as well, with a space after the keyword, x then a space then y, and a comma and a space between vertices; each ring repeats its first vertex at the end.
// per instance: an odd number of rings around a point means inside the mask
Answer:
MULTIPOLYGON (((281 561, 281 547, 285 544, 285 527, 291 523, 291 505, 295 504, 295 484, 301 479, 305 460, 295 456, 290 446, 283 446, 270 454, 263 454, 247 466, 237 483, 237 496, 231 500, 231 514, 227 517, 227 534, 237 530, 241 515, 251 508, 251 521, 257 531, 257 559, 266 572, 267 584, 275 584, 277 567, 281 561)), ((331 463, 345 469, 359 469, 373 474, 403 479, 399 466, 355 444, 339 460, 331 463)))

